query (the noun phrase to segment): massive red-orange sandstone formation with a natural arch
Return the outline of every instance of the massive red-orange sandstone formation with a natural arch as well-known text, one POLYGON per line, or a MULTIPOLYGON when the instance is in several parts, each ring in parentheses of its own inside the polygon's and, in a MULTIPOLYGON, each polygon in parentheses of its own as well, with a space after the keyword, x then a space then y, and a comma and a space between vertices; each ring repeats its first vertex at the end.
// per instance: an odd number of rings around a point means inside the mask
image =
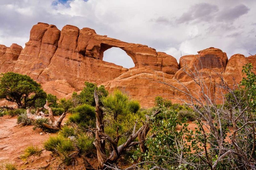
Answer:
POLYGON ((154 48, 101 36, 90 28, 66 25, 60 31, 55 25, 38 23, 31 29, 24 49, 17 44, 0 45, 0 72, 27 74, 58 98, 83 89, 84 81, 103 84, 110 92, 121 88, 148 107, 156 96, 182 98, 182 94, 152 80, 178 86, 177 79, 193 90, 196 85, 186 72, 197 70, 209 84, 210 96, 215 98, 218 90, 214 84, 220 81, 219 74, 229 84, 241 81, 242 66, 248 61, 256 66, 255 57, 235 54, 228 61, 226 53, 210 47, 197 55, 182 56, 178 64, 174 57, 154 48), (135 67, 127 69, 103 61, 104 51, 111 47, 124 50, 135 67))

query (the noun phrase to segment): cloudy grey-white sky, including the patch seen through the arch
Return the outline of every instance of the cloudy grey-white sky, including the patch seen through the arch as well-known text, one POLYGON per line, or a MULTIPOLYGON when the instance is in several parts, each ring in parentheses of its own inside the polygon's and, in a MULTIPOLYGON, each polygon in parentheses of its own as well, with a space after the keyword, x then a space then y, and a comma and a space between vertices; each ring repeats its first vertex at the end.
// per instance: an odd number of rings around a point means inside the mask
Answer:
MULTIPOLYGON (((37 22, 90 27, 100 35, 145 44, 178 61, 216 47, 228 58, 256 54, 255 0, 0 0, 0 44, 25 46, 37 22)), ((133 67, 120 49, 106 61, 133 67)))

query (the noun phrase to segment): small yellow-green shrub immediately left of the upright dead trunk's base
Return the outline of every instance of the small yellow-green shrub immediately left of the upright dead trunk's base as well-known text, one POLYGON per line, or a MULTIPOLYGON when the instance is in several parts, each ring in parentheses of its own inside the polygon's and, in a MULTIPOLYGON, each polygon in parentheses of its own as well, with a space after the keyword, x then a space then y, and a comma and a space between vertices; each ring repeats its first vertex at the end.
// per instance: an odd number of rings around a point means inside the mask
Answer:
POLYGON ((87 135, 79 135, 77 138, 77 147, 79 148, 80 152, 85 155, 88 152, 92 152, 92 142, 93 139, 87 135))

